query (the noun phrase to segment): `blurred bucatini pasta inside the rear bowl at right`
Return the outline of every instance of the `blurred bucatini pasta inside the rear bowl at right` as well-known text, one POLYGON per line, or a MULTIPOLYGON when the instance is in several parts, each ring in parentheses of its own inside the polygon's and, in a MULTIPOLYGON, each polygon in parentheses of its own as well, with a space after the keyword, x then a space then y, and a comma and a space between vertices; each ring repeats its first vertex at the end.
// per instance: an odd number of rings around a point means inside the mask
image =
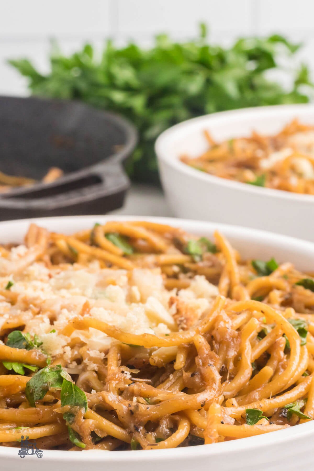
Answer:
POLYGON ((276 135, 254 131, 221 143, 204 134, 209 149, 196 158, 183 155, 182 162, 217 177, 314 195, 314 126, 294 120, 276 135))

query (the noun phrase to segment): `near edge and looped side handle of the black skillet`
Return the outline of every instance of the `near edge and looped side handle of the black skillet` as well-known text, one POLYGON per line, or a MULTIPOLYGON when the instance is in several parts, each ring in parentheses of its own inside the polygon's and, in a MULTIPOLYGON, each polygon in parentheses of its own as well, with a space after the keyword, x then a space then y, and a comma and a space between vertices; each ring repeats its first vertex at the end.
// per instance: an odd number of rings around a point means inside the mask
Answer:
POLYGON ((81 171, 80 175, 66 183, 60 179, 60 185, 55 182, 35 191, 30 189, 20 197, 0 198, 0 219, 103 214, 121 207, 130 183, 120 164, 91 167, 88 174, 81 171))

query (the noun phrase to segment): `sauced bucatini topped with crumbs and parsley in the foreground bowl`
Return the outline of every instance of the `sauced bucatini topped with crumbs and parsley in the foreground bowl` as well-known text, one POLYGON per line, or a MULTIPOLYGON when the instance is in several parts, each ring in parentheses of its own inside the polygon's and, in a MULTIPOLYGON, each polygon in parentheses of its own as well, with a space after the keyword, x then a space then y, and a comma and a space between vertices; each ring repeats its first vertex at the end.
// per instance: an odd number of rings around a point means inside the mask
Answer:
POLYGON ((164 449, 314 418, 314 278, 218 232, 32 224, 1 247, 0 308, 2 446, 164 449))

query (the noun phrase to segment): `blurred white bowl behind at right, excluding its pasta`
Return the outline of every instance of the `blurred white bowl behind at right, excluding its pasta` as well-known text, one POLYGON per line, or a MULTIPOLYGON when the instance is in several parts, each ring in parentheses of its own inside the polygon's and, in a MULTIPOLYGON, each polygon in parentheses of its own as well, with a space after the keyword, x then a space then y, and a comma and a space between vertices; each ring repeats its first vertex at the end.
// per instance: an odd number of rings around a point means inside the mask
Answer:
POLYGON ((156 141, 162 186, 179 218, 224 222, 314 241, 314 196, 255 187, 189 167, 182 154, 208 148, 203 131, 217 141, 249 136, 252 130, 277 133, 292 119, 314 124, 314 105, 247 108, 209 114, 164 131, 156 141))

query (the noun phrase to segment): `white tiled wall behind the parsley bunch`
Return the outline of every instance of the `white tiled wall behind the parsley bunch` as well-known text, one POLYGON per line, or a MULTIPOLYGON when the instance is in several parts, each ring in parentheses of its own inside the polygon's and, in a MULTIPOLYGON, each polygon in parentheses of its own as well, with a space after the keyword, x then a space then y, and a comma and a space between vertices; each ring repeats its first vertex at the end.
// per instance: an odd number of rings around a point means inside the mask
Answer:
POLYGON ((0 94, 26 93, 8 58, 28 57, 47 70, 49 38, 70 53, 84 41, 101 47, 107 37, 142 44, 158 32, 191 38, 201 21, 213 42, 271 32, 304 41, 300 58, 314 70, 313 17, 314 0, 0 0, 0 94))

